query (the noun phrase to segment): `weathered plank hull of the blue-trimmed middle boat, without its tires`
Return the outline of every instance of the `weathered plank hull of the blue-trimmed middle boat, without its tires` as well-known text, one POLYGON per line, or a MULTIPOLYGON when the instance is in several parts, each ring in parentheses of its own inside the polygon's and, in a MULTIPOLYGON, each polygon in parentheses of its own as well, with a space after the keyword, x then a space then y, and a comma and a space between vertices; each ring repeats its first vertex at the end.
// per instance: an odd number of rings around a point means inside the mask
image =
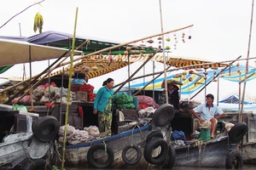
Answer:
MULTIPOLYGON (((160 130, 164 134, 168 134, 168 131, 165 130, 166 127, 162 128, 154 128, 154 130, 160 130)), ((140 159, 140 161, 136 165, 127 165, 122 158, 122 151, 124 150, 125 146, 127 145, 137 145, 138 148, 144 151, 144 145, 146 144, 145 140, 149 133, 152 131, 148 130, 148 126, 135 128, 134 130, 126 131, 125 133, 119 133, 113 135, 110 138, 100 139, 93 141, 91 143, 84 143, 84 144, 74 144, 74 145, 67 145, 65 151, 65 165, 68 167, 90 167, 88 160, 87 160, 87 153, 90 150, 91 145, 93 144, 101 144, 105 143, 111 150, 113 150, 114 158, 113 164, 110 167, 113 168, 154 168, 156 165, 150 164, 145 161, 144 157, 140 159)), ((170 132, 169 132, 170 133, 170 132)), ((168 135, 165 135, 166 139, 168 139, 168 135)), ((170 138, 169 138, 170 139, 170 138)), ((60 148, 61 152, 62 148, 60 148)), ((155 150, 157 151, 157 150, 155 150)), ((155 153, 157 155, 157 153, 155 153)), ((143 154, 142 154, 143 155, 143 154)), ((100 156, 96 156, 100 157, 100 156)), ((137 158, 137 151, 131 150, 127 152, 126 157, 130 160, 134 160, 137 158)), ((100 159, 106 159, 106 157, 102 156, 100 159)), ((60 161, 59 161, 60 163, 60 161)))

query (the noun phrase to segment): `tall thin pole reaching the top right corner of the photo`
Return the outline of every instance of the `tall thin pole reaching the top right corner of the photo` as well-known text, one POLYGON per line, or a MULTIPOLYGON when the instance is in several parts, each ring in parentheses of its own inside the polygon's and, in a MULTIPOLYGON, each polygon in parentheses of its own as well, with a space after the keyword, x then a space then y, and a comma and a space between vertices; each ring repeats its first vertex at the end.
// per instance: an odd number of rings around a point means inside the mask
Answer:
POLYGON ((246 87, 247 87, 248 59, 249 59, 249 55, 250 55, 251 37, 252 37, 252 30, 253 30, 253 4, 254 4, 254 0, 252 3, 250 33, 249 33, 248 50, 247 50, 247 64, 246 64, 246 73, 245 73, 244 82, 243 82, 243 91, 242 91, 242 97, 241 97, 241 112, 239 115, 239 122, 241 122, 241 120, 242 120, 242 109, 243 109, 244 97, 245 97, 245 92, 246 92, 246 87))

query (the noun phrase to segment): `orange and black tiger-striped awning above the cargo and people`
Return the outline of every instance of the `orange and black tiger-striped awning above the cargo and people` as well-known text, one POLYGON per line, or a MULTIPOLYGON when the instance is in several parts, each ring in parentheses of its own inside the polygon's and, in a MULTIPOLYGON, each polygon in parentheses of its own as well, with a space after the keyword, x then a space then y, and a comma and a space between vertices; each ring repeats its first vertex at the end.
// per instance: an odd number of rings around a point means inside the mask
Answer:
MULTIPOLYGON (((73 70, 74 71, 83 71, 83 66, 86 65, 89 67, 90 71, 86 73, 86 77, 94 78, 99 77, 104 74, 107 74, 112 71, 116 71, 122 67, 125 67, 129 63, 135 62, 144 62, 146 61, 150 55, 152 54, 131 54, 128 59, 128 55, 93 55, 86 59, 80 59, 79 62, 74 64, 73 70), (109 57, 113 59, 113 62, 109 62, 109 57)), ((149 59, 150 61, 157 61, 160 63, 164 63, 163 54, 154 54, 154 56, 149 59)), ((216 69, 218 67, 224 67, 226 64, 218 64, 206 59, 194 59, 194 58, 185 58, 185 57, 178 57, 172 56, 170 54, 166 54, 166 65, 172 65, 177 68, 181 68, 183 70, 190 70, 190 69, 207 69, 213 68, 216 69), (180 59, 180 60, 178 60, 180 59), (212 63, 209 65, 203 65, 207 63, 212 63)), ((69 71, 70 68, 67 66, 64 71, 69 71)), ((62 74, 62 71, 55 71, 50 74, 50 77, 59 76, 62 74)))

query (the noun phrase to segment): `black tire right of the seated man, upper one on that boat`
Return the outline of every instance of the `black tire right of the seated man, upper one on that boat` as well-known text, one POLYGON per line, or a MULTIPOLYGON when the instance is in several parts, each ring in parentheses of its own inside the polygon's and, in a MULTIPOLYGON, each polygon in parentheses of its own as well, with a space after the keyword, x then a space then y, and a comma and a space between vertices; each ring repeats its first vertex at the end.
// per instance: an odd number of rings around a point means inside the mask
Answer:
POLYGON ((241 141, 243 135, 248 132, 248 127, 245 122, 237 122, 234 127, 230 129, 229 140, 230 144, 237 144, 241 141))

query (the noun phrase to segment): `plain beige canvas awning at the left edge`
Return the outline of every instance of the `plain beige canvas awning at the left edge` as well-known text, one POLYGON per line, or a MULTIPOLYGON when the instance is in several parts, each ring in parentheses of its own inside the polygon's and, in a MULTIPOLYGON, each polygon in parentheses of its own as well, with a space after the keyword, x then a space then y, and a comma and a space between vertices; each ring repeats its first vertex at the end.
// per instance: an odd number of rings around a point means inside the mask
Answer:
MULTIPOLYGON (((0 39, 0 66, 28 63, 45 59, 56 59, 67 51, 65 48, 54 48, 32 44, 29 42, 0 39)), ((69 56, 71 51, 66 55, 69 56)), ((74 55, 81 55, 81 51, 75 51, 74 55)))

